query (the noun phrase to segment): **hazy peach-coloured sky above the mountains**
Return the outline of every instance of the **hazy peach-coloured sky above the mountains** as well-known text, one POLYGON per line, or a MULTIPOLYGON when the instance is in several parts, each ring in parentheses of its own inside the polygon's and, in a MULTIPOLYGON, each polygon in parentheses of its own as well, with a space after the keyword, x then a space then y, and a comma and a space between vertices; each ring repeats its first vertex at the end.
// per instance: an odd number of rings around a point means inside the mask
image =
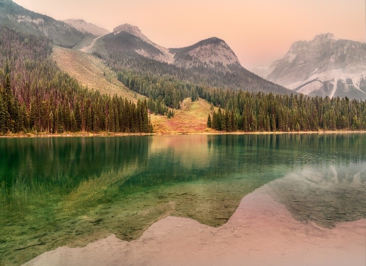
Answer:
POLYGON ((331 32, 365 42, 365 0, 15 0, 55 19, 84 19, 110 31, 129 23, 152 41, 183 47, 224 39, 244 67, 282 58, 296 40, 331 32))

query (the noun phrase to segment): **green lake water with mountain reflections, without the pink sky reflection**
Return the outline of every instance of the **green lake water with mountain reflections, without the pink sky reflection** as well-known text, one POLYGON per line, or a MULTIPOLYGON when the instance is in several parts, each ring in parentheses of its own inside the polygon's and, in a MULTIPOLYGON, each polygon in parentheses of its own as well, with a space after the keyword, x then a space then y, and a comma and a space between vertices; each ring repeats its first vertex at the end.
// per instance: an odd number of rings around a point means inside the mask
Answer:
POLYGON ((299 221, 366 218, 366 134, 0 139, 0 265, 168 216, 214 227, 268 184, 299 221))

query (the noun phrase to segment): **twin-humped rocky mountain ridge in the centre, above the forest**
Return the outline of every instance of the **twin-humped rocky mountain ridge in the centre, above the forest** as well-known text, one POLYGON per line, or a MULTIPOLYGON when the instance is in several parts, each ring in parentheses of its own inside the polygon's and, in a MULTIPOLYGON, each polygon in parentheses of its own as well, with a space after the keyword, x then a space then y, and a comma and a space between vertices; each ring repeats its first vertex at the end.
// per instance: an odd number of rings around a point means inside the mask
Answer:
POLYGON ((115 70, 131 68, 213 87, 291 93, 244 69, 220 38, 208 38, 183 48, 164 48, 133 25, 123 24, 99 38, 92 50, 115 70))

